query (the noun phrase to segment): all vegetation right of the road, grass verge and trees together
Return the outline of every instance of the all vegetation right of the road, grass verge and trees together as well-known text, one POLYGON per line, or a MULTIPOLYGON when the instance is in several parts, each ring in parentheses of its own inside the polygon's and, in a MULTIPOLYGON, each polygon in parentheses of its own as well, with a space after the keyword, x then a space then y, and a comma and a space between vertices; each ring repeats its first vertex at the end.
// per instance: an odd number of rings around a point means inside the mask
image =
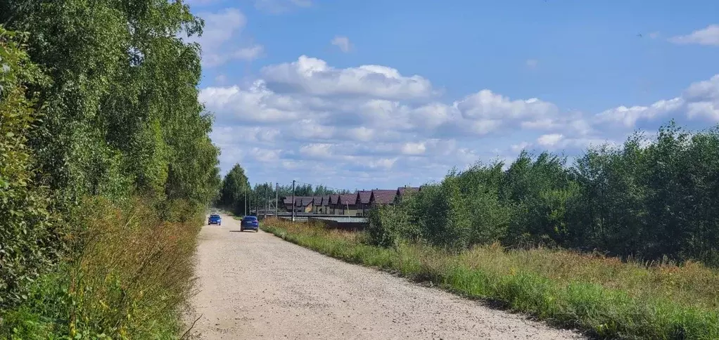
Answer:
POLYGON ((648 137, 452 171, 357 235, 265 229, 600 337, 719 339, 719 131, 648 137))

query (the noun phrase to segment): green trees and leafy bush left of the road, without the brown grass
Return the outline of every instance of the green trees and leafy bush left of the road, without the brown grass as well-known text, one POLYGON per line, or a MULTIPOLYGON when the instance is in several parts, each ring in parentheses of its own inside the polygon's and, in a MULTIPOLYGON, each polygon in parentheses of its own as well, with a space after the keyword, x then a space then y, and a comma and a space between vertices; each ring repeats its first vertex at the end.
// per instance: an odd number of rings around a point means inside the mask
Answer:
POLYGON ((0 313, 76 259, 89 197, 168 222, 216 198, 202 27, 183 1, 0 0, 0 313))

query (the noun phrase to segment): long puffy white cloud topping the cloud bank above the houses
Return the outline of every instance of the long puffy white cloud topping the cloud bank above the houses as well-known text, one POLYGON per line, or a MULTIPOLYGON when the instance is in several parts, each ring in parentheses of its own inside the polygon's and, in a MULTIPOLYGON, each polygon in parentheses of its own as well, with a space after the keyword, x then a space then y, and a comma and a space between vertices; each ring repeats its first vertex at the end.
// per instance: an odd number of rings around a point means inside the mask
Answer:
POLYGON ((427 98, 434 95, 429 80, 418 75, 403 76, 380 65, 336 69, 324 60, 302 55, 296 62, 263 67, 267 82, 311 95, 351 95, 388 99, 427 98))

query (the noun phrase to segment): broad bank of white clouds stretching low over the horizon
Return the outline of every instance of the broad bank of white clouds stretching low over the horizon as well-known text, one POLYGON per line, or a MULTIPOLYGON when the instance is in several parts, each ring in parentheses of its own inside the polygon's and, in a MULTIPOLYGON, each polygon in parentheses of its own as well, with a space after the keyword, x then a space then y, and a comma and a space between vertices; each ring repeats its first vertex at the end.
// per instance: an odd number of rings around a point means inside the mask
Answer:
POLYGON ((423 184, 452 166, 512 159, 525 148, 577 154, 617 145, 647 123, 719 121, 719 75, 675 98, 598 113, 489 89, 452 101, 438 93, 430 80, 392 67, 337 68, 303 55, 263 67, 247 85, 203 88, 200 99, 216 115, 212 138, 224 171, 239 162, 252 181, 335 187, 423 184))

